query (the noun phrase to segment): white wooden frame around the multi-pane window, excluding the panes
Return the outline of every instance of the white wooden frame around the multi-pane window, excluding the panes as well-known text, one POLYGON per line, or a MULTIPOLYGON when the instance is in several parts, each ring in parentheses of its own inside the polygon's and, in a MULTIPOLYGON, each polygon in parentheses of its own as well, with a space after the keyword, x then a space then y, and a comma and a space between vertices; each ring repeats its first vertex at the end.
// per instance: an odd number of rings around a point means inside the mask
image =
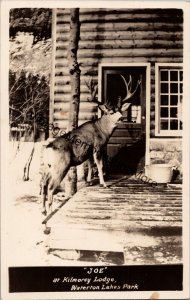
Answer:
POLYGON ((183 71, 182 63, 155 63, 155 136, 182 136, 183 130, 161 130, 160 129, 160 70, 162 68, 181 69, 183 71))

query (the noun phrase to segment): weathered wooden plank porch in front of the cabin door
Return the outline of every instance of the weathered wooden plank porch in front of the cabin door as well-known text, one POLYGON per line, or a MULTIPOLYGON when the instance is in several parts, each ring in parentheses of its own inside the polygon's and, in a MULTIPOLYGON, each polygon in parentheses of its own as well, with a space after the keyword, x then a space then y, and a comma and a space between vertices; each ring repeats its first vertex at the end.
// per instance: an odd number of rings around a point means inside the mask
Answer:
MULTIPOLYGON (((84 187, 48 220, 49 254, 107 265, 182 262, 182 187, 134 176, 84 187)), ((58 201, 59 195, 55 197, 58 201)))

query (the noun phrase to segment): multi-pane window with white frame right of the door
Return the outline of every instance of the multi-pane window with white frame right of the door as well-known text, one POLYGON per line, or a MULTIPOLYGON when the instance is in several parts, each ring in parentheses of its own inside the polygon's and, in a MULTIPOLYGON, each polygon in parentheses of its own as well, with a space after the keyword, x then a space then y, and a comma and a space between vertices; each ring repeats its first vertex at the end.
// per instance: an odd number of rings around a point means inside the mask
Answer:
POLYGON ((182 67, 179 64, 156 65, 156 135, 181 135, 182 98, 182 67))

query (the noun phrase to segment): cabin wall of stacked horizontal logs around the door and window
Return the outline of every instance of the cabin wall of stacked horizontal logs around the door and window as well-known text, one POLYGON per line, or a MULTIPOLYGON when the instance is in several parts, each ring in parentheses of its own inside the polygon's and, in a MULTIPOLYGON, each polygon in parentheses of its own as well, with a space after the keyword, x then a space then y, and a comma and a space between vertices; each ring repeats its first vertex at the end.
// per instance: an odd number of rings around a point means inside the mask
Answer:
MULTIPOLYGON (((71 90, 67 61, 69 22, 70 9, 54 11, 55 67, 52 73, 51 115, 54 124, 62 129, 67 128, 71 90)), ((167 143, 166 138, 160 137, 155 141, 155 63, 183 62, 183 11, 179 9, 81 8, 80 22, 79 124, 97 115, 96 104, 87 100, 89 90, 85 81, 92 77, 98 82, 100 63, 148 62, 151 64, 150 134, 147 137, 150 139, 150 161, 159 157, 158 151, 167 154, 168 143, 171 144, 172 141, 167 143)), ((171 148, 175 148, 175 151, 171 151, 170 158, 173 159, 177 155, 178 160, 181 161, 181 140, 174 138, 173 141, 174 146, 171 148)), ((163 157, 163 153, 160 155, 163 157)))

